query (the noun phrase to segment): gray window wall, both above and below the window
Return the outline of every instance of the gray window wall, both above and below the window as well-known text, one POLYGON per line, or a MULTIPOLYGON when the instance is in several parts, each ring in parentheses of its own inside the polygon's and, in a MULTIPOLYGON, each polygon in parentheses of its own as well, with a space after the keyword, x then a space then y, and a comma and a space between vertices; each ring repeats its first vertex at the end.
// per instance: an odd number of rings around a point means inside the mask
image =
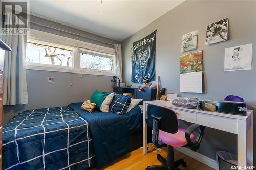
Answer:
MULTIPOLYGON (((59 23, 30 16, 30 28, 45 31, 68 38, 114 48, 114 43, 120 43, 109 38, 101 37, 89 32, 77 30, 59 23), (63 30, 63 31, 62 31, 63 30)), ((55 106, 67 106, 73 102, 83 102, 90 99, 94 90, 112 91, 110 76, 73 74, 73 86, 71 86, 71 73, 27 70, 27 85, 29 104, 4 106, 3 123, 6 124, 18 112, 55 106), (55 83, 48 84, 47 76, 54 76, 55 83)))

